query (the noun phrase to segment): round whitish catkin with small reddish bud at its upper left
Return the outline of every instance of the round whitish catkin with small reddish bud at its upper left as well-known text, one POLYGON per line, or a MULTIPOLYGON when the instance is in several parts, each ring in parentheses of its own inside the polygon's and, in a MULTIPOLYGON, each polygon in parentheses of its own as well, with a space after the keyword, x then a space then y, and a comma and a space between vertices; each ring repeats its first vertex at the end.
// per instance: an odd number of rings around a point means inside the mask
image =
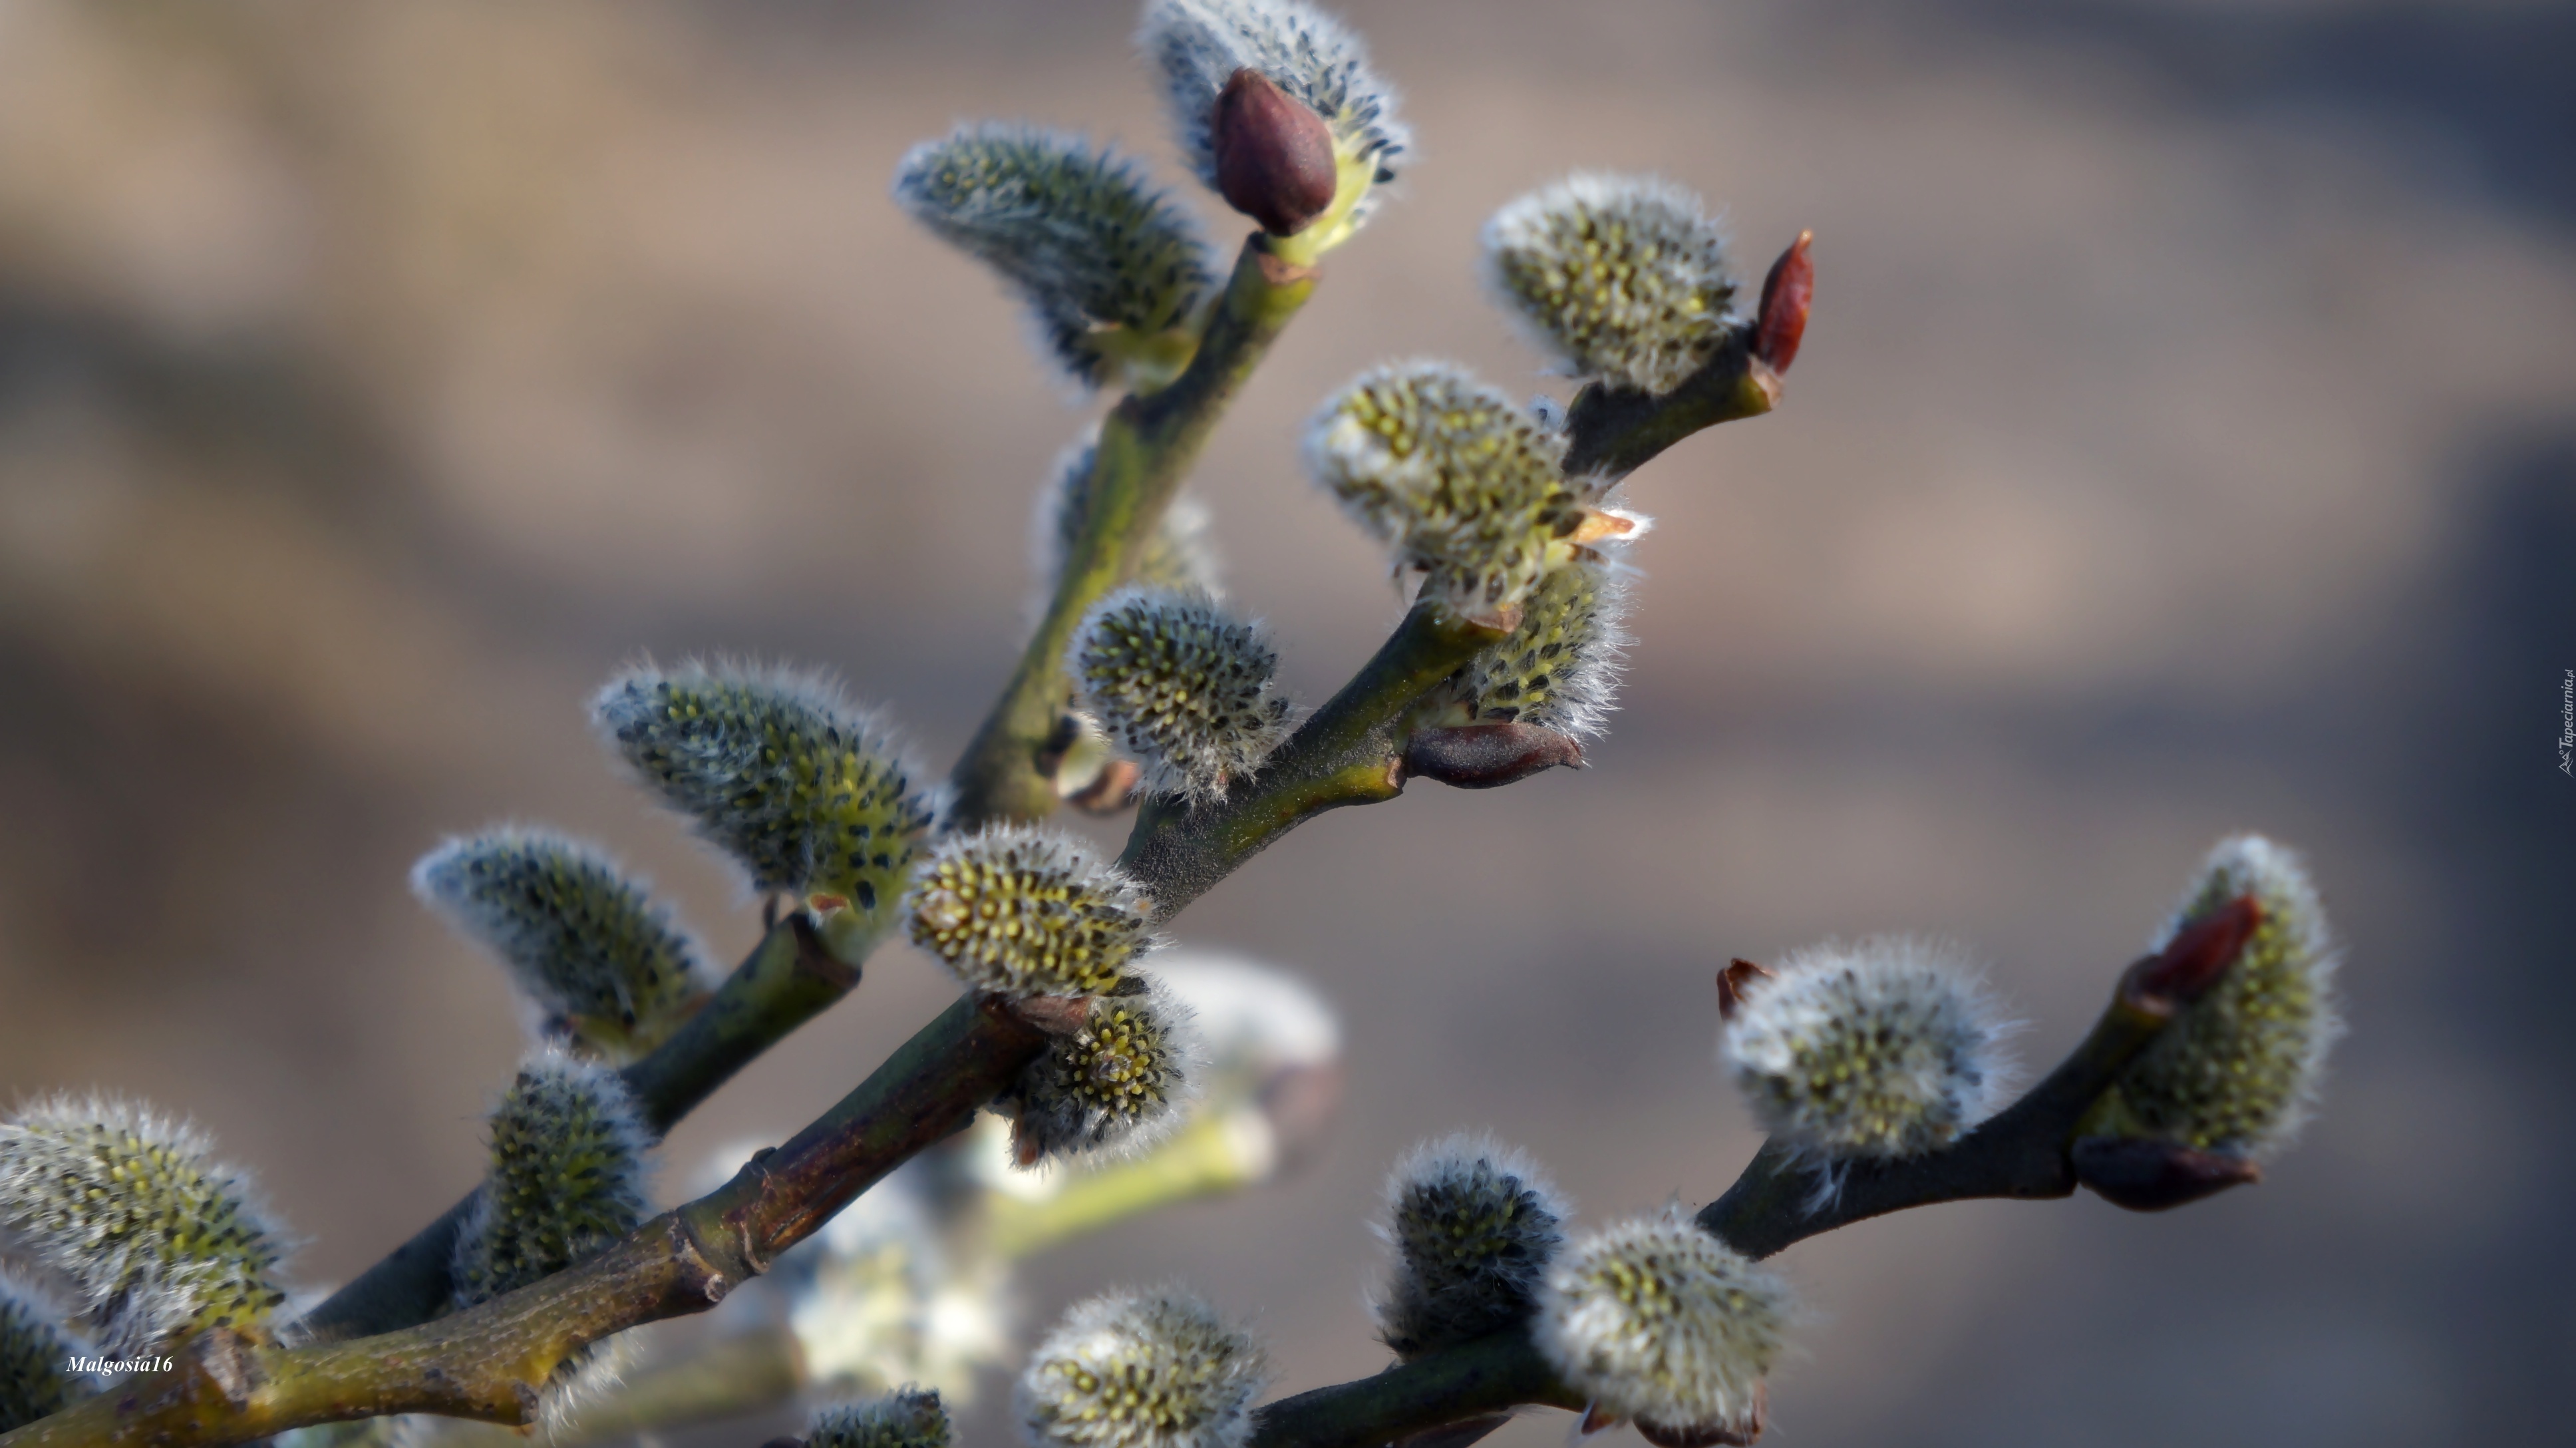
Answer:
POLYGON ((1824 1162, 1947 1147, 2004 1085, 1999 1025, 1968 961, 1883 935, 1811 946, 1744 987, 1718 1036, 1762 1129, 1824 1162))

